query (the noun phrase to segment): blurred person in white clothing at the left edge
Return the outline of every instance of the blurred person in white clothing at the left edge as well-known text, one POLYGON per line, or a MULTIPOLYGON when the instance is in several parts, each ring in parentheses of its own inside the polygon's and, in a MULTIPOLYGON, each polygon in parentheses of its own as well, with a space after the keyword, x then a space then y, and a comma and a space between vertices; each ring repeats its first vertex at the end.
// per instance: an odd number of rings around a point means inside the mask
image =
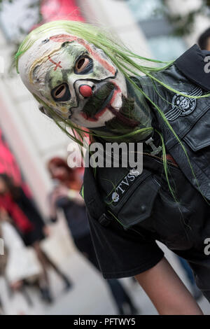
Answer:
MULTIPOLYGON (((41 273, 41 266, 33 250, 23 243, 5 209, 0 209, 0 230, 4 253, 0 256, 0 275, 8 288, 9 297, 19 291, 29 306, 31 298, 25 289, 25 283, 34 283, 41 273)), ((20 305, 22 307, 22 305, 20 305)), ((1 305, 0 305, 1 314, 1 305)))

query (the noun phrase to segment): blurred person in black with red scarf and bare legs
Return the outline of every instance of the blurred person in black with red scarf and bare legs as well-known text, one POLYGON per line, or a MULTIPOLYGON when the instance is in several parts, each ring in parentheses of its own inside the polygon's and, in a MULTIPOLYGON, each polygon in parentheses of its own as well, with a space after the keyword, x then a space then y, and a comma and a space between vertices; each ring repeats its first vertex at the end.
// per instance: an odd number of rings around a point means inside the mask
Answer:
POLYGON ((12 219, 13 225, 20 233, 25 246, 32 246, 34 248, 42 269, 38 286, 43 300, 52 302, 47 273, 48 265, 64 281, 66 289, 71 287, 71 283, 66 275, 62 273, 57 265, 41 249, 40 242, 45 239, 45 234, 48 234, 44 221, 32 200, 27 197, 20 186, 15 186, 13 179, 7 174, 0 174, 0 207, 12 219))

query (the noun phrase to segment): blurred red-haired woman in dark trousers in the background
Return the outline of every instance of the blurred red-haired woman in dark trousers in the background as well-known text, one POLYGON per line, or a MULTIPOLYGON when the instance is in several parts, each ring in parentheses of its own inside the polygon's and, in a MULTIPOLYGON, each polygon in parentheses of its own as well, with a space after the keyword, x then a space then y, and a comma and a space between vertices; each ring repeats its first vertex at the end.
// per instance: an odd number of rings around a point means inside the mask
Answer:
MULTIPOLYGON (((99 269, 86 217, 85 204, 79 193, 83 176, 81 169, 70 168, 62 158, 52 158, 48 162, 48 170, 52 179, 57 181, 49 197, 52 221, 57 220, 57 209, 62 209, 74 244, 90 260, 92 265, 99 269)), ((106 283, 108 283, 118 307, 118 314, 137 314, 137 308, 120 282, 116 279, 108 279, 106 283)))

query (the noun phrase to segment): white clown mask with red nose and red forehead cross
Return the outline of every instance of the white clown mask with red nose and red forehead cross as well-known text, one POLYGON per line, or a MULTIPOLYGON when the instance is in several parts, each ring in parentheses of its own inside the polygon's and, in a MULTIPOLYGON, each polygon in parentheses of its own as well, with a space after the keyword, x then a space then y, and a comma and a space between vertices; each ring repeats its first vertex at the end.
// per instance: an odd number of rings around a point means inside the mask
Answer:
MULTIPOLYGON (((64 31, 48 32, 20 56, 18 69, 32 94, 81 127, 102 127, 127 97, 125 77, 101 49, 64 31)), ((48 114, 47 110, 44 110, 48 114)))

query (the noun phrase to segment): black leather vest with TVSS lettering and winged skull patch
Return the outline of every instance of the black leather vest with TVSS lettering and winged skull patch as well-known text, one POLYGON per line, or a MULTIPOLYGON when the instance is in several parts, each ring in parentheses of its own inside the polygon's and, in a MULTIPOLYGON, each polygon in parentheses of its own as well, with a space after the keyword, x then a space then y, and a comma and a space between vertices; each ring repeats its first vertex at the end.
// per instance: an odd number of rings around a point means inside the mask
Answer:
MULTIPOLYGON (((207 55, 209 52, 194 45, 155 76, 183 93, 207 93, 210 91, 210 73, 204 71, 207 55)), ((154 87, 145 76, 139 77, 139 84, 165 113, 188 153, 197 181, 183 148, 153 109, 155 125, 163 134, 167 152, 178 164, 169 164, 169 182, 179 202, 174 201, 169 191, 161 155, 160 158, 145 155, 142 174, 130 168, 97 168, 94 178, 92 168, 85 168, 84 197, 90 222, 106 226, 118 221, 125 230, 138 226, 147 240, 158 239, 173 250, 195 246, 202 250, 207 234, 202 228, 209 218, 209 204, 204 197, 210 200, 210 97, 189 100, 159 83, 154 87)))

